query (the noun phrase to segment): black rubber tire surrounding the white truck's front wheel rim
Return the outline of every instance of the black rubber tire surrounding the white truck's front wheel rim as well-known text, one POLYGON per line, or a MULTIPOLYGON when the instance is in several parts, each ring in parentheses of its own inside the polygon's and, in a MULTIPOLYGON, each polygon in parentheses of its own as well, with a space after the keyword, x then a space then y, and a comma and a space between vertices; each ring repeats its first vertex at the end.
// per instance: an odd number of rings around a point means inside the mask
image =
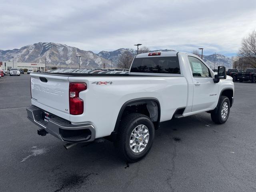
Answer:
POLYGON ((229 112, 230 112, 230 100, 226 96, 220 96, 220 103, 218 105, 218 110, 217 111, 213 110, 211 113, 212 121, 216 124, 224 124, 228 120, 229 112), (221 115, 222 106, 225 102, 228 105, 228 112, 226 114, 226 117, 222 118, 222 115, 221 115))

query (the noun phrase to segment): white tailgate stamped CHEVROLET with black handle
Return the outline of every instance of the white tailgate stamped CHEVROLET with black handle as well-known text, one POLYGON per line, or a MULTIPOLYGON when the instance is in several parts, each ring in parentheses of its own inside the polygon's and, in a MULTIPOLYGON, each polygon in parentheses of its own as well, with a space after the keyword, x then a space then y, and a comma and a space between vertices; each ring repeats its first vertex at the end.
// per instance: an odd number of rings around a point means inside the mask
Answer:
POLYGON ((31 73, 33 105, 69 120, 69 82, 67 76, 31 73))

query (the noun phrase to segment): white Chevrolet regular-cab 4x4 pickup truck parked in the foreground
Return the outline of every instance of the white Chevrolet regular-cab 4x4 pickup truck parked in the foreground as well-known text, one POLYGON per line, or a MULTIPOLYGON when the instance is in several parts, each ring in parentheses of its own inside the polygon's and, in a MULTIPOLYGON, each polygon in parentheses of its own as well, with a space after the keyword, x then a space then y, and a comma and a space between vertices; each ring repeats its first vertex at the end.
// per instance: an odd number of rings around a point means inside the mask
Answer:
POLYGON ((226 68, 212 69, 198 56, 154 52, 134 57, 129 74, 31 73, 28 118, 66 142, 112 140, 129 162, 143 158, 160 122, 200 112, 226 122, 234 83, 226 68))

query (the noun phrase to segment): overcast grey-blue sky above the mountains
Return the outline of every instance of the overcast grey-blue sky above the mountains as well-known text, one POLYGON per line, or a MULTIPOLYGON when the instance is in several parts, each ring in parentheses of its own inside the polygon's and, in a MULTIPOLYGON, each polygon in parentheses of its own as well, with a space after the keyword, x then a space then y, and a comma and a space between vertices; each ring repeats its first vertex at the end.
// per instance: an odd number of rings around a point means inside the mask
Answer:
POLYGON ((135 48, 236 55, 256 29, 256 0, 1 0, 0 49, 58 42, 99 52, 135 48))

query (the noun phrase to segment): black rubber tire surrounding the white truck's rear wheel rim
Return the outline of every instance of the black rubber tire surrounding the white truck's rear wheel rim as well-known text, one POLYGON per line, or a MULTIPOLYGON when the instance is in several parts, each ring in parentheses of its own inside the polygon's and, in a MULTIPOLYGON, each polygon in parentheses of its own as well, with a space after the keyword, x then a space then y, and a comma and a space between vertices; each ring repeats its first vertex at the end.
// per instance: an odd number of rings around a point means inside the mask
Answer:
POLYGON ((114 142, 114 145, 117 149, 117 152, 121 158, 126 160, 127 162, 137 162, 141 160, 152 147, 153 141, 155 136, 155 128, 154 124, 148 118, 148 116, 139 114, 139 113, 132 113, 125 116, 121 124, 118 128, 117 138, 114 142), (148 128, 149 138, 146 147, 141 152, 135 153, 130 148, 130 138, 132 131, 139 125, 145 125, 148 128))

